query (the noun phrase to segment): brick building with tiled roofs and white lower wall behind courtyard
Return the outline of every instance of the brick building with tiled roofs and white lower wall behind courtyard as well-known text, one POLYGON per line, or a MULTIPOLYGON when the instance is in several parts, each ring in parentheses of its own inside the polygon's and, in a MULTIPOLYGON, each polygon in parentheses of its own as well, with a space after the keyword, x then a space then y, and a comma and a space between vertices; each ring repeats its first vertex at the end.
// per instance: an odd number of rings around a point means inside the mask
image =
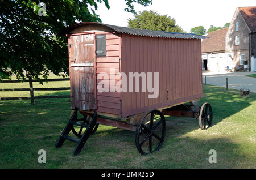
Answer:
POLYGON ((237 7, 229 28, 207 37, 202 42, 203 70, 256 71, 256 7, 237 7))

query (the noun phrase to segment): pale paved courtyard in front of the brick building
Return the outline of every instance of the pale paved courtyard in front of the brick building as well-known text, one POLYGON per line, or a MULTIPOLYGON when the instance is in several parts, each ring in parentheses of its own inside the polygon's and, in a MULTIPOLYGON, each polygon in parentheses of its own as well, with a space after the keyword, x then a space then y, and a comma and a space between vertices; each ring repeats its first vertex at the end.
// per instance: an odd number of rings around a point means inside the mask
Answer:
POLYGON ((246 88, 250 89, 250 92, 256 93, 256 78, 247 77, 246 75, 249 74, 256 74, 256 72, 203 72, 203 84, 206 76, 207 84, 226 87, 226 78, 228 78, 228 88, 238 90, 246 88))

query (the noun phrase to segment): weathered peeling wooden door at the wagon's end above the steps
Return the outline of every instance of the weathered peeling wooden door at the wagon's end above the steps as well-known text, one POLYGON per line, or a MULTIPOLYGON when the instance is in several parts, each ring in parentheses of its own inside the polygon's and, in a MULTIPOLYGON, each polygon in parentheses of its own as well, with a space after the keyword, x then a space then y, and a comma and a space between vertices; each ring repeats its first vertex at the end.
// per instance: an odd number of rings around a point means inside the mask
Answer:
POLYGON ((69 45, 71 108, 96 109, 94 34, 72 36, 69 45))

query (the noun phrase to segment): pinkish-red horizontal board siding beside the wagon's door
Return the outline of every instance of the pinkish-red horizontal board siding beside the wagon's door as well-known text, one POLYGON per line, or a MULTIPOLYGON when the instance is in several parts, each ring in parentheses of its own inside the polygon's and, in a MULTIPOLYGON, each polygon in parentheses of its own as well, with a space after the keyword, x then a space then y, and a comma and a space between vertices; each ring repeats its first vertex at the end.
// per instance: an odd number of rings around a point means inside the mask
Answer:
MULTIPOLYGON (((106 34, 106 57, 96 58, 96 73, 105 72, 109 75, 109 86, 112 82, 115 84, 120 80, 119 76, 110 76, 110 68, 115 68, 114 75, 119 72, 119 36, 113 34, 106 34), (113 79, 114 77, 114 79, 113 79)), ((97 79, 97 85, 101 81, 106 80, 97 79)), ((109 87, 109 91, 110 91, 109 87)), ((97 89, 97 110, 98 112, 120 114, 120 93, 118 92, 99 92, 97 89)))

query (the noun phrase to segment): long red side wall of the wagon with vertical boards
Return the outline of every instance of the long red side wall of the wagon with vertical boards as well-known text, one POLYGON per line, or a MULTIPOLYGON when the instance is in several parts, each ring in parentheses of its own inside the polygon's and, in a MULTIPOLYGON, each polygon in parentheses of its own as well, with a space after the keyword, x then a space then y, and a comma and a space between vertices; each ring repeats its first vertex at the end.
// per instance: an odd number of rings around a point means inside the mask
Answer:
POLYGON ((127 76, 152 72, 154 80, 154 72, 159 72, 158 98, 148 98, 148 91, 141 88, 122 92, 123 117, 203 97, 201 40, 122 34, 121 54, 122 72, 127 76))

